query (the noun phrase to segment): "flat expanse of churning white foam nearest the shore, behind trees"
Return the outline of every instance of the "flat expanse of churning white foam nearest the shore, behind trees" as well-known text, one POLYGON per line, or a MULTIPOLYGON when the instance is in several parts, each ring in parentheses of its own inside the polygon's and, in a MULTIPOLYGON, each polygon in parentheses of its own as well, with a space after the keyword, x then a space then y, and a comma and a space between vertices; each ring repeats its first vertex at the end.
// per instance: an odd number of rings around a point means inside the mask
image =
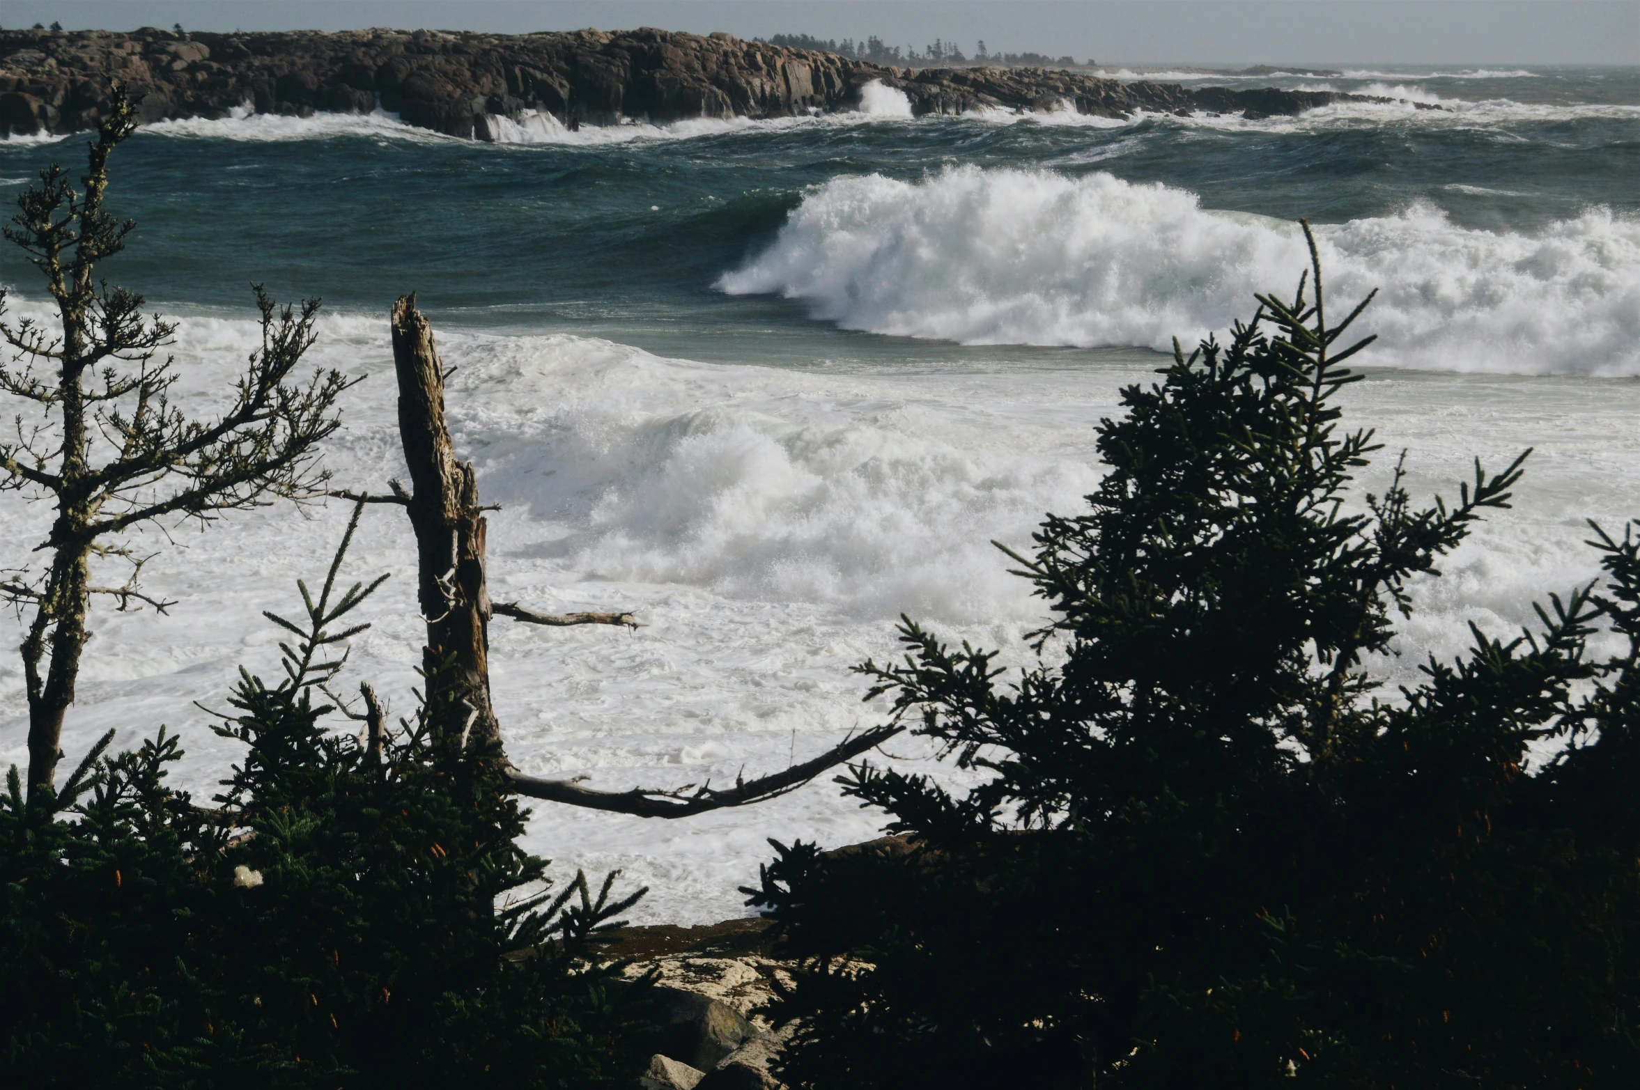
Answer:
MULTIPOLYGON (((1200 244, 1245 257, 1238 221, 1227 223, 1227 234, 1200 244)), ((1286 285, 1279 248, 1291 239, 1268 221, 1240 223, 1276 239, 1286 285)), ((1253 261, 1225 274, 1235 313, 1260 269, 1253 261)), ((10 303, 49 315, 28 298, 10 303)), ((1383 328, 1374 320, 1369 311, 1368 328, 1383 328)), ((256 344, 243 316, 185 315, 179 403, 220 405, 256 344)), ((900 610, 1018 661, 1020 633, 1041 603, 987 539, 1025 546, 1043 511, 1079 510, 1100 472, 1094 423, 1117 411, 1120 387, 1155 377, 1151 359, 807 374, 443 326, 440 344, 458 366, 448 398, 458 449, 477 464, 485 498, 503 505, 490 516, 492 595, 546 611, 630 608, 646 623, 625 633, 499 620, 490 633, 512 756, 526 770, 585 774, 610 790, 774 770, 877 721, 848 667, 895 654, 900 610)), ((346 395, 346 428, 326 446, 338 484, 379 490, 403 475, 385 320, 326 316, 312 361, 371 372, 346 395)), ((1404 626, 1402 657, 1378 664, 1392 680, 1415 680, 1424 651, 1461 651, 1469 620, 1507 633, 1532 620, 1533 597, 1589 579, 1581 520, 1615 526, 1640 485, 1632 382, 1378 372, 1348 405, 1350 423, 1381 426, 1391 449, 1412 447, 1420 495, 1450 492, 1474 454, 1496 466, 1520 446, 1540 447, 1515 510, 1443 564, 1446 579, 1417 588, 1424 611, 1404 626)), ((1363 485, 1381 487, 1384 470, 1363 485)), ((48 518, 0 493, 0 567, 30 559, 48 518)), ((208 795, 238 749, 192 702, 220 705, 241 662, 272 674, 279 633, 261 610, 292 606, 294 580, 312 580, 344 518, 344 505, 307 518, 276 506, 203 533, 182 526, 175 544, 156 536, 148 587, 179 605, 166 618, 93 606, 97 638, 64 738, 71 757, 108 728, 116 746, 131 746, 169 723, 189 751, 180 783, 208 795)), ((353 641, 349 679, 374 680, 395 715, 413 706, 420 661, 413 565, 402 513, 371 508, 348 575, 394 579, 364 618, 376 626, 353 641)), ((0 644, 16 646, 13 624, 0 618, 0 644)), ((26 759, 21 705, 15 652, 3 654, 0 767, 26 759)), ((900 767, 964 782, 912 741, 889 749, 909 757, 900 767)), ((540 803, 528 846, 553 857, 558 875, 623 867, 625 888, 651 885, 640 921, 704 923, 743 911, 736 887, 768 859, 764 836, 845 844, 876 833, 877 816, 822 777, 754 810, 679 823, 540 803)))

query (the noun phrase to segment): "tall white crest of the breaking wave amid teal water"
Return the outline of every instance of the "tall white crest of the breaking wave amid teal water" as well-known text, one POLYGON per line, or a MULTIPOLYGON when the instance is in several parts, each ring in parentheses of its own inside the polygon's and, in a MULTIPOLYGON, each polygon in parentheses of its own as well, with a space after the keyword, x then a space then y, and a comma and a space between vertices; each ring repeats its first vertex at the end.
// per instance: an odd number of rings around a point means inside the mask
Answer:
MULTIPOLYGON (((1640 374, 1633 220, 1596 208, 1494 234, 1414 205, 1317 234, 1335 300, 1381 290, 1374 362, 1640 374)), ((1209 211, 1181 188, 953 167, 825 184, 718 287, 804 298, 851 329, 1161 349, 1245 315, 1251 285, 1289 290, 1304 264, 1297 225, 1209 211)))

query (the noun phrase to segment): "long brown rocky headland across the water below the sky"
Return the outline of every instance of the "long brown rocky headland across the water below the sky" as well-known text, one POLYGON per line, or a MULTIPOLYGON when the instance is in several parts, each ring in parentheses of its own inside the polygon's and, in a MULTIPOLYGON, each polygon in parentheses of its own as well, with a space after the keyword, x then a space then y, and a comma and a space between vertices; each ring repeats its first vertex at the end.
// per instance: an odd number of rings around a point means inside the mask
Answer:
POLYGON ((382 108, 449 136, 494 141, 500 118, 551 115, 569 128, 646 118, 777 118, 851 110, 871 82, 913 115, 1076 108, 1099 116, 1214 111, 1296 115, 1332 102, 1387 102, 1266 87, 1184 89, 1048 69, 899 69, 731 34, 661 30, 477 34, 0 31, 0 134, 89 129, 121 84, 143 123, 235 113, 308 116, 382 108))

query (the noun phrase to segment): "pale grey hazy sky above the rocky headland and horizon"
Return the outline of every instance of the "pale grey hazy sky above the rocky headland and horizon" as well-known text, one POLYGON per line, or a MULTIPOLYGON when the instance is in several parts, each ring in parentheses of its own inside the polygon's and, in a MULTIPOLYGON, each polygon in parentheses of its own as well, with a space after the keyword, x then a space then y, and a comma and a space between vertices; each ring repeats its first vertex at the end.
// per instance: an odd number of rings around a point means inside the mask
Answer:
POLYGON ((879 34, 1110 62, 1640 64, 1640 0, 3 0, 0 25, 663 26, 879 34))

